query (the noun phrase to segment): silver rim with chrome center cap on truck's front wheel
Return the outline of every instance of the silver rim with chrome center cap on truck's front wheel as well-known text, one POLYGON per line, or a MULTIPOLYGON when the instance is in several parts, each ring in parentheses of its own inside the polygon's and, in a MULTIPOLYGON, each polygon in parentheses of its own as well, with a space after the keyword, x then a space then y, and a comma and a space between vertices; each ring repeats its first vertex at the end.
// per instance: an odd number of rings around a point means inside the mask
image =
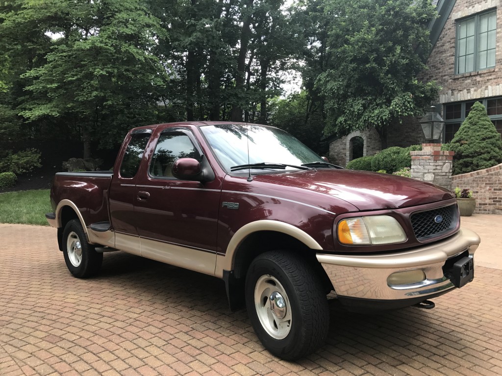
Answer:
POLYGON ((284 339, 291 331, 291 305, 283 285, 271 275, 261 276, 255 285, 255 308, 267 334, 284 339))

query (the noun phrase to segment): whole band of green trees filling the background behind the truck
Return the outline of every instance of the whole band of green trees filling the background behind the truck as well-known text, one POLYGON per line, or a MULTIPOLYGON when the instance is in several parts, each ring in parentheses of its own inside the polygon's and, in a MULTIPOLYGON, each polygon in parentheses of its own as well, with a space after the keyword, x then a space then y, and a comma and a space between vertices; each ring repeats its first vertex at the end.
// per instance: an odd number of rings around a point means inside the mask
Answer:
POLYGON ((429 0, 7 0, 0 146, 78 140, 66 158, 88 157, 133 126, 244 120, 322 152, 323 130, 383 130, 429 105, 433 14, 429 0), (304 91, 278 100, 291 69, 304 91))

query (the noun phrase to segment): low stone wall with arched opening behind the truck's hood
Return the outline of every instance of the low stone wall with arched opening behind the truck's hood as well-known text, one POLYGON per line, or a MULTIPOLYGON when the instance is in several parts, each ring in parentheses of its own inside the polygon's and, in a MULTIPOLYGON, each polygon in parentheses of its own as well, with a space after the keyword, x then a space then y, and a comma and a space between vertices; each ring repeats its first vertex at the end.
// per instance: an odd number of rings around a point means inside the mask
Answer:
POLYGON ((329 144, 329 161, 345 167, 352 160, 351 141, 354 137, 361 137, 364 141, 362 155, 375 155, 382 150, 382 141, 374 128, 354 131, 345 137, 334 140, 329 144))

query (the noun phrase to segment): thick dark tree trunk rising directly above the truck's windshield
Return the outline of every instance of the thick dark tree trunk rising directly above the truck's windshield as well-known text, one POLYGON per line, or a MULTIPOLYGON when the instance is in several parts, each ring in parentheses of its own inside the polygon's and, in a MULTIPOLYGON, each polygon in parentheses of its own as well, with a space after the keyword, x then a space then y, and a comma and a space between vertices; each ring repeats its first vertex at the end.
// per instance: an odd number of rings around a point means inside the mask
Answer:
MULTIPOLYGON (((235 91, 237 93, 242 93, 244 91, 244 73, 246 67, 246 54, 247 54, 247 45, 249 44, 249 37, 251 35, 251 30, 249 26, 251 25, 251 10, 253 7, 254 0, 246 0, 245 9, 243 10, 246 13, 243 16, 242 21, 242 30, 240 34, 240 49, 239 49, 239 57, 237 59, 237 72, 235 72, 235 91)), ((239 100, 239 99, 237 99, 239 100)), ((231 121, 242 121, 242 104, 237 102, 232 106, 232 112, 230 114, 231 121)))

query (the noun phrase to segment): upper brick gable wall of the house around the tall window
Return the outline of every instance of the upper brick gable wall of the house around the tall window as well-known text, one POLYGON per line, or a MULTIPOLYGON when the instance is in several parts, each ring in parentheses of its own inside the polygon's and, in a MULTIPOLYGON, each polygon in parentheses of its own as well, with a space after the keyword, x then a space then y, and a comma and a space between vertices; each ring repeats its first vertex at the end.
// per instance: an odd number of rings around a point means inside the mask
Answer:
POLYGON ((424 81, 443 88, 439 102, 448 103, 502 95, 502 6, 500 0, 457 0, 432 53, 424 81), (455 20, 497 7, 495 68, 455 75, 455 20))

